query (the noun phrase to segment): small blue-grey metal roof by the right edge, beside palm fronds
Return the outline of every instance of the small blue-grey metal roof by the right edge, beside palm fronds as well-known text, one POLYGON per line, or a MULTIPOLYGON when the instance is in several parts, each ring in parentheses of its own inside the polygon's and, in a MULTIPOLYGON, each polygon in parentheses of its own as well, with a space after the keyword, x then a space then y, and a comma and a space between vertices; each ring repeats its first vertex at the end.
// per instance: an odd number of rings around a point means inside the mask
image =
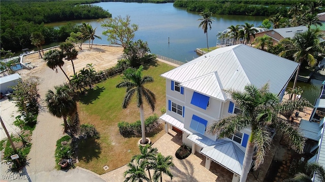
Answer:
POLYGON ((315 141, 318 141, 320 138, 318 132, 321 130, 321 127, 319 127, 319 124, 316 122, 309 122, 309 120, 301 119, 299 130, 305 138, 315 141))

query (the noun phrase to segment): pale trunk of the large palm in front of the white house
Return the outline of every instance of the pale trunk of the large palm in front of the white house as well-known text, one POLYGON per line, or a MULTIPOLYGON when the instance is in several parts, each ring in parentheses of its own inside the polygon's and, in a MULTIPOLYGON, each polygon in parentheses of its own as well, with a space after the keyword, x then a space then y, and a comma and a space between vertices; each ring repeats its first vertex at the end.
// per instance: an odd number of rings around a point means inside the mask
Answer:
MULTIPOLYGON (((252 134, 251 134, 252 136, 252 134)), ((244 157, 244 161, 243 161, 243 170, 242 173, 240 175, 240 180, 239 182, 245 182, 247 179, 247 175, 251 166, 251 162, 253 159, 253 155, 254 155, 254 146, 251 142, 252 137, 250 136, 249 141, 247 143, 246 146, 246 151, 245 151, 245 157, 244 157)))

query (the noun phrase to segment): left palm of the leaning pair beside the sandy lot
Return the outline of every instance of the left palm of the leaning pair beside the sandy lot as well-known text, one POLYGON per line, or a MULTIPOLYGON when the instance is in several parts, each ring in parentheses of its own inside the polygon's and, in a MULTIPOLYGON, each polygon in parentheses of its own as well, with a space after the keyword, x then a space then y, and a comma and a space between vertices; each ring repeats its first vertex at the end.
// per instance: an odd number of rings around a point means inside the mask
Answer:
POLYGON ((60 50, 57 50, 57 49, 49 50, 48 52, 46 52, 44 54, 44 60, 47 61, 46 66, 48 66, 52 70, 55 69, 56 73, 57 73, 57 67, 59 67, 61 69, 61 71, 63 72, 63 74, 66 75, 66 77, 68 78, 68 80, 70 82, 68 75, 62 69, 62 66, 64 65, 64 62, 62 60, 63 57, 64 57, 63 52, 60 50))

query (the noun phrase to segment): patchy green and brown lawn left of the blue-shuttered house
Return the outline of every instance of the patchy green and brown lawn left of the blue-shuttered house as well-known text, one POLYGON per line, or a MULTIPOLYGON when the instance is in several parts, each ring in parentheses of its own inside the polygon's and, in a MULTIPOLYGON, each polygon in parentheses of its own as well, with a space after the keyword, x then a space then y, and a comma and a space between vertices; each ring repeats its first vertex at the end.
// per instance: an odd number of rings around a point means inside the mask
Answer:
MULTIPOLYGON (((174 66, 157 62, 155 66, 143 71, 143 76, 150 75, 154 82, 145 86, 156 95, 156 109, 151 111, 145 103, 145 117, 156 113, 161 115, 160 108, 166 107, 166 81, 160 77, 174 66)), ((79 143, 78 166, 89 169, 97 174, 117 169, 127 164, 132 156, 139 154, 137 142, 140 137, 124 138, 117 127, 117 123, 124 120, 128 123, 140 119, 139 108, 136 99, 133 98, 127 109, 122 109, 122 101, 125 89, 116 88, 116 84, 122 81, 120 75, 107 79, 105 82, 95 85, 94 96, 81 96, 78 103, 80 124, 90 123, 100 132, 100 139, 86 139, 79 143), (99 89, 96 91, 96 89, 99 89), (91 147, 90 147, 91 146, 91 147), (109 169, 105 171, 103 166, 109 169)), ((155 142, 165 134, 163 127, 154 134, 150 133, 152 142, 155 142)))

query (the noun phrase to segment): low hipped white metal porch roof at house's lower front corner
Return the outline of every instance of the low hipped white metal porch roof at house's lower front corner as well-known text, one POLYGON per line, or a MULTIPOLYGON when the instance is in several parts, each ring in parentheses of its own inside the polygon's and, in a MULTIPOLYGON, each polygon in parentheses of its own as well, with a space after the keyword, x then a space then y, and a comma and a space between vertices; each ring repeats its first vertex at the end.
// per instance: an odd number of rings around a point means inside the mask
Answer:
POLYGON ((232 141, 219 140, 213 146, 204 147, 200 153, 233 173, 241 175, 245 153, 232 141))

